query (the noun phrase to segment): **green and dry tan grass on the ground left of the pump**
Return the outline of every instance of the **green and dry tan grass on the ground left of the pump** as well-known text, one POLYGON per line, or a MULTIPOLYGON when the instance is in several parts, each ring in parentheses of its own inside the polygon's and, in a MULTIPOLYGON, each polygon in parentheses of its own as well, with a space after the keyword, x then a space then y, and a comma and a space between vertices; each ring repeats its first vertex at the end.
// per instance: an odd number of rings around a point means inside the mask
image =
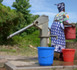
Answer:
POLYGON ((37 50, 30 48, 29 45, 34 47, 40 46, 39 31, 35 31, 30 35, 21 37, 14 36, 14 45, 1 45, 0 52, 5 55, 24 55, 24 56, 37 56, 37 50))

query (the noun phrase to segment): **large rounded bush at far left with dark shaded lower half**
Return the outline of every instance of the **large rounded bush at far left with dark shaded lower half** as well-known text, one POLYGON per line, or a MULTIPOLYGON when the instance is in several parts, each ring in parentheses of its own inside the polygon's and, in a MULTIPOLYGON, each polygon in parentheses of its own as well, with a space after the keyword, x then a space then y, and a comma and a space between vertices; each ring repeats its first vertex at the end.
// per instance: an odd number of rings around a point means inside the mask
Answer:
POLYGON ((22 13, 17 13, 15 10, 0 4, 0 44, 7 41, 7 36, 12 33, 14 26, 19 24, 19 19, 25 20, 22 13))

